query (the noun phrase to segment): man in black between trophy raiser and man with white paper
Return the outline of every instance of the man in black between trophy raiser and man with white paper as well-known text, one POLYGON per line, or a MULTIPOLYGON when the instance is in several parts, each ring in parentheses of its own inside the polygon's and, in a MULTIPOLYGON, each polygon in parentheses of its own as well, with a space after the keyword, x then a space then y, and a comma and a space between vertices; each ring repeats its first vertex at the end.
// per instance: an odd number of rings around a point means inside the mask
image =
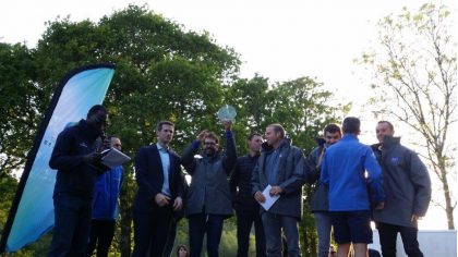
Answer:
POLYGON ((261 154, 263 137, 260 133, 252 133, 248 137, 249 154, 237 159, 236 168, 230 179, 233 207, 237 215, 237 256, 248 256, 250 246, 250 232, 254 223, 256 235, 256 256, 266 255, 266 242, 264 236, 263 221, 260 215, 260 205, 253 198, 251 178, 253 169, 261 154))

